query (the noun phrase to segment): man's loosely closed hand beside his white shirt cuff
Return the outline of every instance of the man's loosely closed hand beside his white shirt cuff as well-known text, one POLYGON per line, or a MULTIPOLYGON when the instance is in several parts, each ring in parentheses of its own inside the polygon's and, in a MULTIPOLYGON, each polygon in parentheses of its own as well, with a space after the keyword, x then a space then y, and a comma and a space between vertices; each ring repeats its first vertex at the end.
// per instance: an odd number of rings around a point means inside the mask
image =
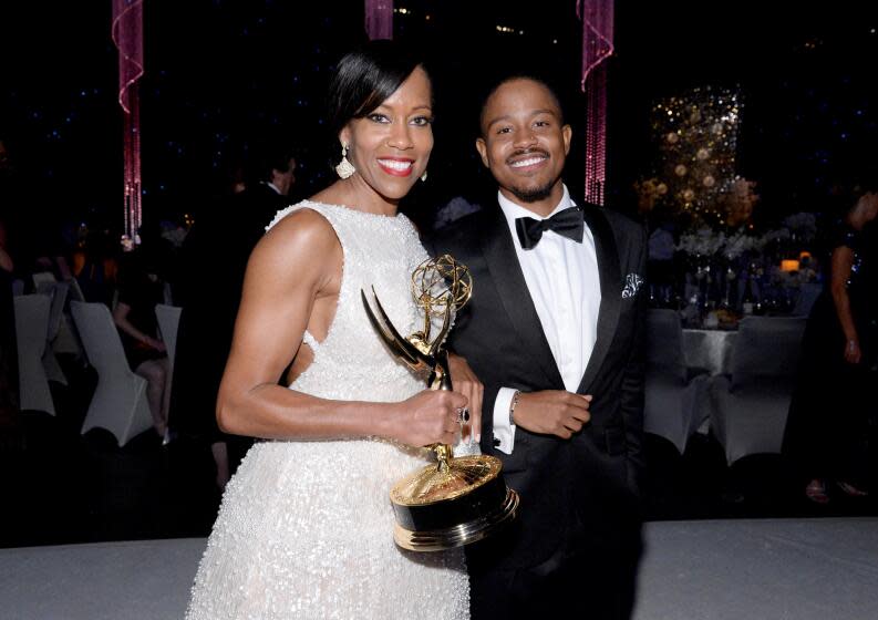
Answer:
POLYGON ((531 433, 569 440, 591 420, 590 404, 590 394, 583 396, 564 390, 521 392, 515 406, 514 423, 531 433))

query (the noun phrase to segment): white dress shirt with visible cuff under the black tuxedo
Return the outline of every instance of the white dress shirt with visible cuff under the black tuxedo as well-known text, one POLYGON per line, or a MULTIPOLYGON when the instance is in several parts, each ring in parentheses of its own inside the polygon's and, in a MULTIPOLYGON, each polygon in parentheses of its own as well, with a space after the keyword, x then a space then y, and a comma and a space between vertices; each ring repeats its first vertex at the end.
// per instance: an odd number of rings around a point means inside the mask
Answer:
MULTIPOLYGON (((498 193, 497 198, 564 386, 568 392, 576 392, 598 338, 600 276, 595 237, 588 225, 581 244, 547 230, 534 248, 526 250, 518 240, 516 218, 548 219, 576 206, 567 187, 560 203, 545 218, 508 200, 503 194, 498 193)), ((509 424, 514 394, 514 389, 500 388, 494 401, 494 438, 495 443, 499 442, 497 450, 506 454, 512 454, 515 445, 515 425, 509 424)))

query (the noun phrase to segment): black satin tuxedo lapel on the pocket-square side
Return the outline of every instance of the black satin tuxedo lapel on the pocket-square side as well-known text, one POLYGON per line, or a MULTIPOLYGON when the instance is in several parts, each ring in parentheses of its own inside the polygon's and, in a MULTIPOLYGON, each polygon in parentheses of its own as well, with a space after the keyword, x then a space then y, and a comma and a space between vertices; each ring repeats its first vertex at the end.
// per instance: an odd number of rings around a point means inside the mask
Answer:
POLYGON ((588 360, 582 381, 579 382, 580 394, 587 394, 595 381, 607 352, 610 350, 616 327, 619 324, 619 310, 622 302, 622 278, 619 271, 619 251, 616 237, 607 217, 600 207, 585 205, 582 214, 595 237, 595 249, 598 255, 598 273, 600 277, 600 310, 598 311, 598 339, 588 360))

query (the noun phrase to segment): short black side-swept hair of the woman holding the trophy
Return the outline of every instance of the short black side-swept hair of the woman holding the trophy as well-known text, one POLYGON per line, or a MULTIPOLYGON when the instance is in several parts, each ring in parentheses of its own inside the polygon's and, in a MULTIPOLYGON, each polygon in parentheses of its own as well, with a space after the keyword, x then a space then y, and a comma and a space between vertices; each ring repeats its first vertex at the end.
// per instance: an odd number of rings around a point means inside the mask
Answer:
POLYGON ((389 40, 369 41, 345 54, 329 85, 327 111, 332 137, 353 118, 363 118, 381 105, 417 66, 423 69, 419 56, 389 40))

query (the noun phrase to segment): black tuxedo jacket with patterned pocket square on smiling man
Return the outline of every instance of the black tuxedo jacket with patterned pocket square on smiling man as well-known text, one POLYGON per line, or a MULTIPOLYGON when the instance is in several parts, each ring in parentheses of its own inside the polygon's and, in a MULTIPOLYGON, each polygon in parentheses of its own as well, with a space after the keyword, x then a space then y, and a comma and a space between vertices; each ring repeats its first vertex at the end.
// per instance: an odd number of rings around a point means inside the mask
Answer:
POLYGON ((502 568, 550 572, 596 549, 639 546, 645 231, 624 216, 577 204, 595 239, 601 302, 597 341, 577 390, 593 396, 591 421, 570 440, 518 426, 510 455, 494 447, 500 388, 565 390, 496 199, 427 242, 473 276, 473 297, 457 316, 450 349, 485 385, 482 452, 503 461, 506 482, 521 498, 513 534, 492 551, 502 556, 492 558, 502 568))

